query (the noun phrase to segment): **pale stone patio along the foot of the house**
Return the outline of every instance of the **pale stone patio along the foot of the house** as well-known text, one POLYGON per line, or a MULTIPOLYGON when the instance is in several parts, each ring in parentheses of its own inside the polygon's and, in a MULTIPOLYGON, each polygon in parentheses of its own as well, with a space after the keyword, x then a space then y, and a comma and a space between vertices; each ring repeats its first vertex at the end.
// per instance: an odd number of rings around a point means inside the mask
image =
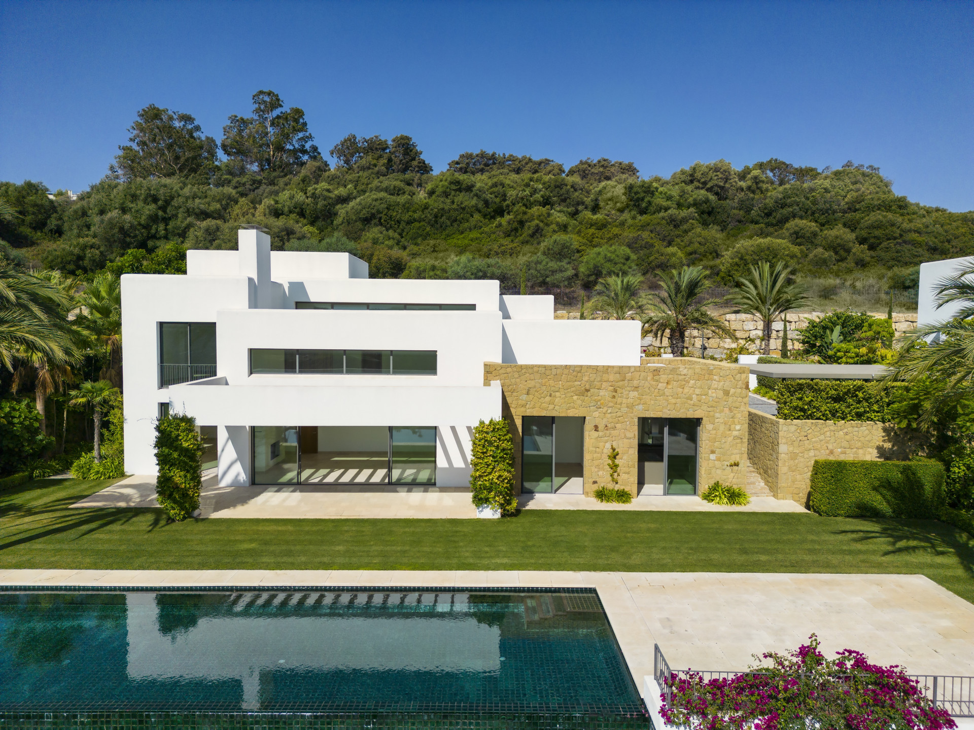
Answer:
MULTIPOLYGON (((521 509, 629 510, 671 512, 807 512, 790 499, 752 497, 743 507, 708 504, 698 496, 641 494, 631 504, 603 504, 581 494, 522 494, 521 509)), ((131 476, 72 507, 158 507, 156 478, 131 476)), ((477 516, 466 487, 409 485, 280 485, 219 487, 205 474, 201 517, 214 519, 473 519, 477 516)))

